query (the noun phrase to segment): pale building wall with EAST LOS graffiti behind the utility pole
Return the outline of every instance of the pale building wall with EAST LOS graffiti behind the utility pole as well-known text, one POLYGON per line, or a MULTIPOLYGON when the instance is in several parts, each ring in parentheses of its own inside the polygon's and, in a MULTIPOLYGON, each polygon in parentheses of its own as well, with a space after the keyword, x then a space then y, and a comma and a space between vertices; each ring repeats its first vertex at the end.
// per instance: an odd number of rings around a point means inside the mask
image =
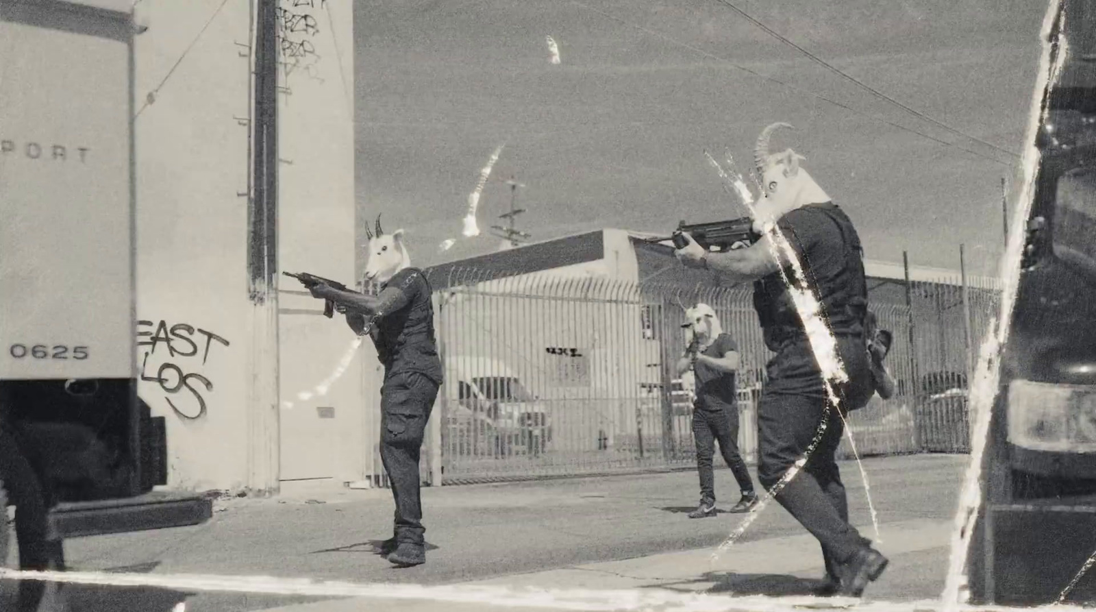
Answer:
MULTIPOLYGON (((307 4, 283 3, 292 11, 283 15, 283 49, 299 64, 282 72, 290 93, 279 106, 286 160, 279 168, 279 267, 350 282, 352 56, 343 54, 340 63, 334 53, 336 41, 351 44, 350 0, 307 4)), ((148 25, 136 41, 139 390, 155 415, 168 418, 169 487, 175 489, 248 486, 251 10, 249 0, 142 0, 136 8, 138 22, 148 25)), ((282 307, 316 309, 313 301, 294 297, 283 298, 282 307)), ((330 374, 351 335, 316 315, 281 319, 286 399, 330 374)), ((335 420, 353 405, 356 388, 353 376, 331 386, 323 405, 335 406, 335 420)), ((294 407, 308 409, 315 416, 316 403, 294 407)), ((293 428, 283 432, 286 446, 307 443, 294 438, 293 428)), ((276 430, 262 433, 277 440, 276 430)), ((326 442, 317 454, 332 455, 322 427, 309 437, 326 442)), ((295 461, 306 455, 297 449, 295 461)))

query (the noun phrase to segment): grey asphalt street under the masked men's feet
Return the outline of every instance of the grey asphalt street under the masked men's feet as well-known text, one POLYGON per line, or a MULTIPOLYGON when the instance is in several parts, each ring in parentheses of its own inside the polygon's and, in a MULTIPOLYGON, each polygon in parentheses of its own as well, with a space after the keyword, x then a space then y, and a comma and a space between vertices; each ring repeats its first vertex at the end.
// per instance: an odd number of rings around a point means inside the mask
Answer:
MULTIPOLYGON (((866 460, 880 522, 949 520, 966 460, 946 455, 866 460)), ((726 469, 716 474, 720 505, 730 507, 738 498, 733 478, 726 469)), ((870 524, 859 471, 846 463, 843 475, 853 521, 870 524)), ((73 570, 461 582, 713 546, 741 517, 687 519, 684 513, 695 507, 696 489, 695 472, 424 489, 427 563, 409 569, 395 569, 369 549, 370 542, 391 534, 392 502, 384 490, 328 491, 310 500, 231 500, 219 506, 205 525, 73 540, 66 544, 66 554, 73 570)), ((742 541, 799 530, 774 505, 742 541)), ((914 582, 924 582, 923 578, 910 577, 914 582)), ((169 611, 180 601, 189 611, 236 612, 310 601, 147 588, 68 586, 65 593, 73 612, 169 611)))

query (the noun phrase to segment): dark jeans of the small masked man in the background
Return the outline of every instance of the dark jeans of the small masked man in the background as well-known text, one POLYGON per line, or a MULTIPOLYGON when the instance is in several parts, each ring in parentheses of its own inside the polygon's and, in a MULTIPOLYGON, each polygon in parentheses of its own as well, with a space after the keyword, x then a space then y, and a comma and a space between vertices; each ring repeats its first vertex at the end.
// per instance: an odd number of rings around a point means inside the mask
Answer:
POLYGON ((743 492, 753 490, 753 480, 750 479, 746 462, 742 461, 742 455, 739 454, 738 407, 723 410, 695 408, 693 410, 693 439, 696 440, 696 468, 700 474, 700 501, 703 503, 716 502, 716 484, 711 460, 716 454, 717 441, 723 461, 727 462, 727 466, 731 468, 734 479, 739 483, 739 489, 743 492))

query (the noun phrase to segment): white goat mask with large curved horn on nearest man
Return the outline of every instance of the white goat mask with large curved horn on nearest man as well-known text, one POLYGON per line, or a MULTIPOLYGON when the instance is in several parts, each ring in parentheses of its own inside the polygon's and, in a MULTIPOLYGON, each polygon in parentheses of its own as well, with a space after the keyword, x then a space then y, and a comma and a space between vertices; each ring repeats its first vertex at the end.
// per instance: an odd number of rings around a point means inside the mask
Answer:
POLYGON ((831 200, 799 165, 806 157, 790 148, 778 154, 768 152, 773 132, 779 127, 792 128, 787 123, 770 124, 757 136, 754 146, 754 168, 761 181, 762 195, 754 206, 755 231, 762 231, 766 224, 778 222, 796 208, 831 200))

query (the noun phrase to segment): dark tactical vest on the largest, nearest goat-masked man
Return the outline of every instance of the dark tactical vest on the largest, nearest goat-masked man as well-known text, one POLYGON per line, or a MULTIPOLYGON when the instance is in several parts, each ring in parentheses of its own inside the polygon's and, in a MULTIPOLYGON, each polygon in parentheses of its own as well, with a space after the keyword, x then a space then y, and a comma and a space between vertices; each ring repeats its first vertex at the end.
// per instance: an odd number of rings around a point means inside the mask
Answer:
MULTIPOLYGON (((833 203, 811 204, 798 211, 825 216, 841 233, 844 265, 835 270, 818 270, 809 261, 799 263, 807 275, 807 285, 821 302, 830 330, 835 336, 863 335, 868 287, 864 276, 864 248, 853 223, 833 203)), ((785 233, 785 238, 797 239, 791 231, 785 233)), ((787 269, 787 273, 789 277, 795 275, 791 268, 787 269)), ((779 272, 754 282, 753 302, 764 331, 765 344, 770 351, 779 352, 789 342, 806 340, 802 320, 779 272)))

